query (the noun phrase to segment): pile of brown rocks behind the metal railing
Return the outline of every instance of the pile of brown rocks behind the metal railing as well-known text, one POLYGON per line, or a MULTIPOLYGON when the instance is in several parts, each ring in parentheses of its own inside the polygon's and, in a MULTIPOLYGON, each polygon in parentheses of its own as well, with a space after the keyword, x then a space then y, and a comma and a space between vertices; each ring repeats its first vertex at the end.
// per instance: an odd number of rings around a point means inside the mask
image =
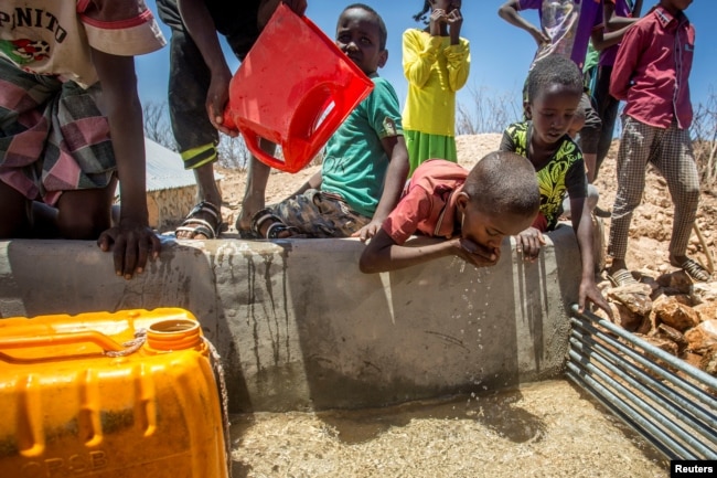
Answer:
MULTIPOLYGON (((693 284, 682 270, 650 274, 633 273, 635 285, 602 284, 613 322, 717 376, 717 282, 693 284)), ((608 318, 602 310, 596 315, 608 318)))

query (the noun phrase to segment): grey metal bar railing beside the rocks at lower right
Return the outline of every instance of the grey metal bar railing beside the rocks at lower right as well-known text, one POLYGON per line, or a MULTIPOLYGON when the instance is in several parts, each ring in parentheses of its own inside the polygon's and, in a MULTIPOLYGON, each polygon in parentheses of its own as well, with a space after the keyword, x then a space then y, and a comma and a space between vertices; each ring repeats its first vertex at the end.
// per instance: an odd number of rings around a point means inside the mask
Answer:
POLYGON ((717 379, 572 306, 567 376, 670 459, 717 459, 717 379))

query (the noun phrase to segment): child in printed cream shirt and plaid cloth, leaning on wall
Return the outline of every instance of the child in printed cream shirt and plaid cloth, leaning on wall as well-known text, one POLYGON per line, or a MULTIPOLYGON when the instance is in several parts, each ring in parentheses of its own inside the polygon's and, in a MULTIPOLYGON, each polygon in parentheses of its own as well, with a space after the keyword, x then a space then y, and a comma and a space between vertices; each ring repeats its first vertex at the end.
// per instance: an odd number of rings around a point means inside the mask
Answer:
POLYGON ((0 238, 97 240, 113 249, 116 274, 131 278, 160 252, 133 56, 164 38, 137 0, 3 1, 0 10, 0 238))

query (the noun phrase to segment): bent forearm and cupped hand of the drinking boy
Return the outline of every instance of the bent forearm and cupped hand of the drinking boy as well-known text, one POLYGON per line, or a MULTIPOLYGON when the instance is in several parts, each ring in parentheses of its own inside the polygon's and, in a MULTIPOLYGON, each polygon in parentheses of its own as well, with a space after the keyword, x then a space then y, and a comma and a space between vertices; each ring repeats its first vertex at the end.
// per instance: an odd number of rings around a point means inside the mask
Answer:
POLYGON ((451 255, 461 257, 475 267, 489 267, 497 263, 500 251, 488 251, 461 237, 421 240, 421 244, 415 246, 398 245, 381 229, 361 254, 358 268, 365 274, 383 273, 451 255))

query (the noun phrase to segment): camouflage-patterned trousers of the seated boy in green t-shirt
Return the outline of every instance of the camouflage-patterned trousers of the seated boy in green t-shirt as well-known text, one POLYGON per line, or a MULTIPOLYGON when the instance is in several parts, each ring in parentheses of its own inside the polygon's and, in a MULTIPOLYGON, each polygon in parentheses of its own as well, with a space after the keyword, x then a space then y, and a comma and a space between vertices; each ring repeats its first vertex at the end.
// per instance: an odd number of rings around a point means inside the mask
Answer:
POLYGON ((371 222, 338 194, 310 189, 270 206, 274 214, 309 237, 349 237, 371 222))

